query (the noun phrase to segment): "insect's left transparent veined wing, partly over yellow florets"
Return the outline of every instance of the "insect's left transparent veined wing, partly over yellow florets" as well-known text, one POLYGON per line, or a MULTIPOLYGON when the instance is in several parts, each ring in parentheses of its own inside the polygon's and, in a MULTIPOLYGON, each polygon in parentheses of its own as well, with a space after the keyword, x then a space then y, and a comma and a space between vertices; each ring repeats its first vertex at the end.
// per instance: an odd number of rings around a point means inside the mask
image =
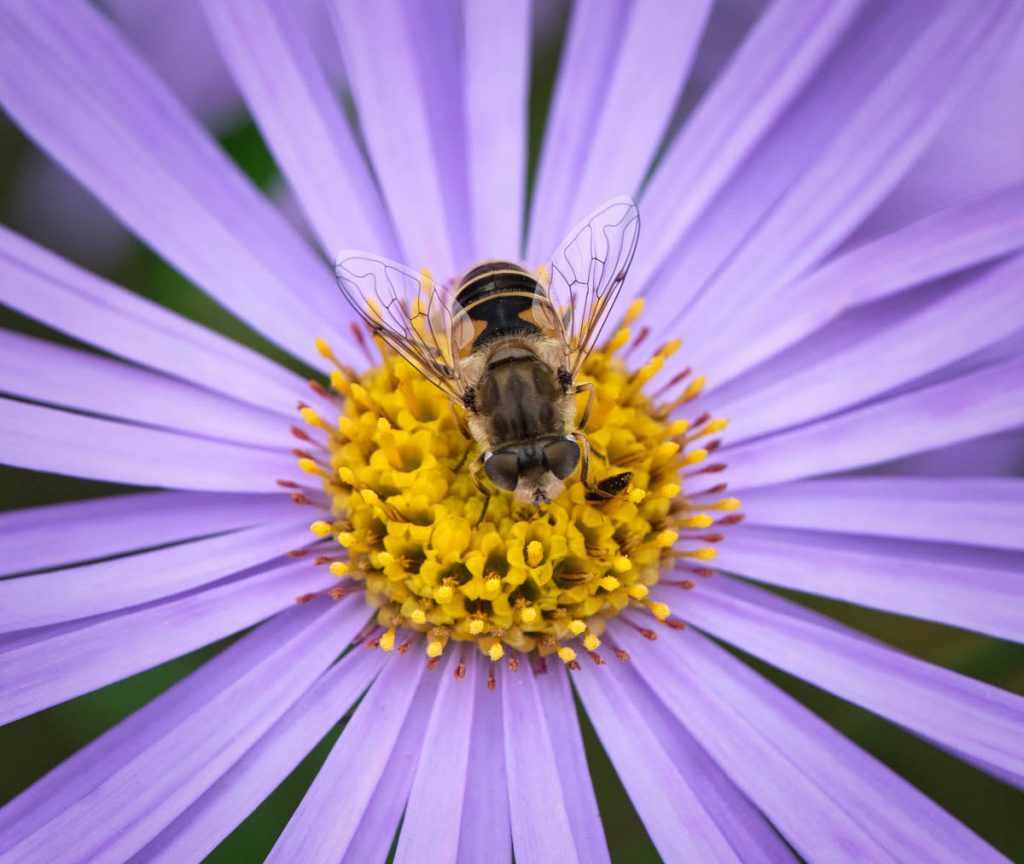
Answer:
POLYGON ((370 255, 342 252, 334 265, 352 308, 397 354, 455 399, 464 387, 452 353, 452 292, 423 273, 370 255))

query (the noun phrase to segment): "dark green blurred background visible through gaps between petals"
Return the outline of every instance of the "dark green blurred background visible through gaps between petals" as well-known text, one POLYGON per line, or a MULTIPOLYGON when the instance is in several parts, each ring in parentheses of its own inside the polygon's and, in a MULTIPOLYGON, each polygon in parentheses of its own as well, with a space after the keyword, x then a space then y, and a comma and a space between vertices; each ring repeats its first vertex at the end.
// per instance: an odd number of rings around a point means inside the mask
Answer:
MULTIPOLYGON (((531 90, 531 163, 550 100, 557 50, 535 58, 531 90)), ((699 96, 691 85, 684 112, 699 96)), ((219 135, 227 153, 264 189, 280 178, 259 133, 248 122, 219 135)), ((18 172, 36 159, 32 145, 0 118, 0 222, 16 224, 13 193, 18 172)), ((59 201, 49 202, 59 207, 59 201)), ((23 228, 31 233, 31 228, 23 228)), ((95 262, 93 263, 94 266, 95 262)), ((157 255, 137 243, 96 266, 103 275, 188 317, 244 342, 302 372, 301 366, 206 298, 157 255)), ((65 337, 0 308, 0 326, 69 343, 65 337)), ((112 484, 39 475, 0 467, 0 506, 31 507, 125 490, 112 484)), ((59 532, 54 533, 59 543, 59 532)), ((969 587, 965 587, 970 590, 969 587)), ((1017 693, 1024 693, 1024 647, 938 624, 902 618, 847 604, 786 594, 837 619, 919 657, 1017 693)), ((221 650, 230 640, 0 729, 0 802, 29 786, 86 742, 143 705, 221 650)), ((1024 795, 908 735, 867 711, 815 687, 749 659, 772 681, 873 753, 1013 860, 1024 861, 1024 795)), ((210 861, 259 861, 273 845, 323 763, 343 725, 321 742, 295 772, 210 856, 210 861)), ((594 785, 605 831, 616 862, 657 861, 621 783, 593 730, 584 721, 594 785)), ((70 838, 70 841, 73 841, 70 838)))

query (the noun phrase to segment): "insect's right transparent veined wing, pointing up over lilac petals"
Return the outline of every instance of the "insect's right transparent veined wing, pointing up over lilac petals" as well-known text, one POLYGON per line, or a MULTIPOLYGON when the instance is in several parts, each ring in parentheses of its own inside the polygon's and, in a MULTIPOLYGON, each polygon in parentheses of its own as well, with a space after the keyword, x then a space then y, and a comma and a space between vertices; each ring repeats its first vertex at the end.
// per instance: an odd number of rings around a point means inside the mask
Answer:
POLYGON ((577 225, 551 259, 548 291, 562 319, 573 376, 608 319, 639 236, 633 199, 614 198, 577 225))

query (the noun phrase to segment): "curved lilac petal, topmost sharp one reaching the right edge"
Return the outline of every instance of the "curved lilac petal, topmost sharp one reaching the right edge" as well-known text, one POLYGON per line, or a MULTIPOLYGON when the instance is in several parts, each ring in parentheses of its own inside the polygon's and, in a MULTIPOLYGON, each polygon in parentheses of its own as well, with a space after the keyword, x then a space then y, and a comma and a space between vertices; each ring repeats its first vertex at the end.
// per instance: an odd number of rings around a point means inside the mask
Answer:
POLYGON ((844 309, 870 303, 995 261, 1024 248, 1024 185, 997 189, 949 207, 833 259, 778 298, 751 298, 751 311, 730 327, 742 350, 709 346, 702 360, 720 386, 804 337, 844 309), (755 314, 754 310, 757 310, 755 314))

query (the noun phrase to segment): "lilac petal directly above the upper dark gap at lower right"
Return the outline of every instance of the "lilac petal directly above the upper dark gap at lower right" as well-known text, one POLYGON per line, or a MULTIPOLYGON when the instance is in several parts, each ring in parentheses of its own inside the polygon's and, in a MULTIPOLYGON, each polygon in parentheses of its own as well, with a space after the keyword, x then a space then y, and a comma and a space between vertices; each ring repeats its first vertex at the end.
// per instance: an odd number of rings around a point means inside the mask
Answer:
POLYGON ((729 530, 715 566, 758 581, 1024 642, 1024 591, 1016 558, 1015 569, 985 568, 944 562, 945 545, 919 557, 916 544, 890 549, 861 539, 740 525, 729 530))

